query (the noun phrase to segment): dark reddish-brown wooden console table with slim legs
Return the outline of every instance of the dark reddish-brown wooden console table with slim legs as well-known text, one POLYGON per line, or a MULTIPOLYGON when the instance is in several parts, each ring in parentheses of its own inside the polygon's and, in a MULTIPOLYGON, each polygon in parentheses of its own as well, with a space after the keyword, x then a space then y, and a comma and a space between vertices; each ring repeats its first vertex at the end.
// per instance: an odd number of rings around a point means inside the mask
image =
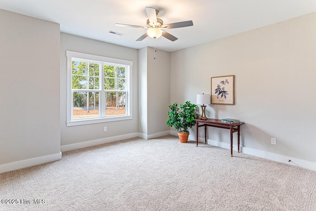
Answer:
POLYGON ((207 120, 195 119, 195 121, 196 121, 196 128, 197 128, 197 145, 198 145, 198 127, 204 126, 205 144, 206 144, 206 134, 207 134, 206 128, 207 128, 207 126, 219 127, 219 128, 229 129, 231 132, 231 156, 233 156, 233 133, 237 132, 237 135, 238 135, 238 152, 239 152, 240 126, 245 124, 245 123, 230 124, 230 123, 223 123, 221 120, 216 120, 216 119, 207 119, 207 120), (201 123, 202 125, 198 125, 199 123, 201 123))

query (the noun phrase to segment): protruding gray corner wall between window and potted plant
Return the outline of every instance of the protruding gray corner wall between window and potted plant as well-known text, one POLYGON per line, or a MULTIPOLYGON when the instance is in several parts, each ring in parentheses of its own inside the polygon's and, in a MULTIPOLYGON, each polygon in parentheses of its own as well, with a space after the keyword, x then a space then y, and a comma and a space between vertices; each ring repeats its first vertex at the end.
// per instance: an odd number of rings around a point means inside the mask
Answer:
POLYGON ((139 49, 139 132, 144 138, 169 133, 165 122, 170 104, 170 53, 139 49))

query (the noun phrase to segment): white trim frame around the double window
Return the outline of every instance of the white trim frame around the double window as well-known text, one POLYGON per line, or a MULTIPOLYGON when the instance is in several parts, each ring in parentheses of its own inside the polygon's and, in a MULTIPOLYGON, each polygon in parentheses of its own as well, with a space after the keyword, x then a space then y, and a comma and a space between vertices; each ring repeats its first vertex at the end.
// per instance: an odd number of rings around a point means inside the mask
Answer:
MULTIPOLYGON (((86 53, 79 53, 74 51, 66 50, 66 56, 67 56, 67 126, 78 126, 78 125, 86 125, 86 124, 95 124, 95 123, 104 123, 104 122, 113 122, 113 121, 121 121, 121 120, 130 120, 133 118, 132 115, 132 68, 133 68, 133 62, 122 60, 122 59, 116 59, 116 58, 110 58, 105 56, 97 56, 97 55, 91 55, 86 53), (126 71, 126 87, 127 87, 127 96, 126 101, 128 102, 128 105, 126 106, 126 115, 119 115, 119 116, 109 116, 109 117, 98 117, 98 118, 89 118, 89 119, 76 119, 72 120, 72 58, 76 59, 86 59, 98 62, 106 62, 111 63, 113 66, 115 65, 127 65, 129 66, 128 70, 126 71)), ((103 71, 102 71, 103 72, 103 71)), ((103 77, 103 74, 102 74, 103 77)), ((101 85, 100 85, 101 87, 101 85)), ((101 92, 101 91, 100 91, 101 92)), ((102 95, 102 94, 101 94, 102 95)), ((102 98, 103 96, 100 96, 100 104, 103 102, 102 98)))

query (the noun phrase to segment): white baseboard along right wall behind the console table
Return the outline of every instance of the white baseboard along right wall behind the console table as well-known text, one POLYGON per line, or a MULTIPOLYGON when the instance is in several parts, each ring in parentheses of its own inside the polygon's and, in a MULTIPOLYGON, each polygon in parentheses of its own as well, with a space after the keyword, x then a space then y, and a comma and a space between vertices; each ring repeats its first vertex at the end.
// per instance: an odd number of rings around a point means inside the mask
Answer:
MULTIPOLYGON (((204 142, 204 138, 198 137, 198 141, 204 142)), ((214 141, 207 139, 207 143, 212 146, 217 146, 221 147, 224 149, 231 149, 231 145, 228 143, 223 143, 220 141, 214 141)), ((233 151, 237 151, 238 146, 233 144, 233 151)), ((252 149, 249 147, 242 147, 240 146, 240 152, 247 154, 247 155, 253 155, 259 158, 265 158, 268 160, 276 161, 279 163, 284 163, 292 166, 297 166, 297 167, 302 167, 304 169, 310 169, 310 170, 315 170, 316 171, 316 163, 310 162, 310 161, 305 161, 297 158, 292 158, 284 155, 279 155, 276 153, 271 153, 271 152, 266 152, 266 151, 261 151, 257 149, 252 149), (291 162, 288 162, 288 161, 291 162)))

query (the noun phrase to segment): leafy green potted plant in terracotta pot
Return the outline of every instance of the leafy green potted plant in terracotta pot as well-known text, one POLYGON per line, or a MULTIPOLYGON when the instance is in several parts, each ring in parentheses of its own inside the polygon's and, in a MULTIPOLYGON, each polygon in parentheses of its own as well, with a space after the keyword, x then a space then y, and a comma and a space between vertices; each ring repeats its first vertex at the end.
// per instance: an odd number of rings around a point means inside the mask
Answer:
POLYGON ((174 127, 178 131, 181 143, 187 143, 189 137, 189 128, 196 124, 194 119, 198 118, 197 105, 192 104, 190 101, 185 104, 180 104, 182 111, 179 111, 178 103, 169 105, 171 111, 168 111, 168 127, 174 127))

